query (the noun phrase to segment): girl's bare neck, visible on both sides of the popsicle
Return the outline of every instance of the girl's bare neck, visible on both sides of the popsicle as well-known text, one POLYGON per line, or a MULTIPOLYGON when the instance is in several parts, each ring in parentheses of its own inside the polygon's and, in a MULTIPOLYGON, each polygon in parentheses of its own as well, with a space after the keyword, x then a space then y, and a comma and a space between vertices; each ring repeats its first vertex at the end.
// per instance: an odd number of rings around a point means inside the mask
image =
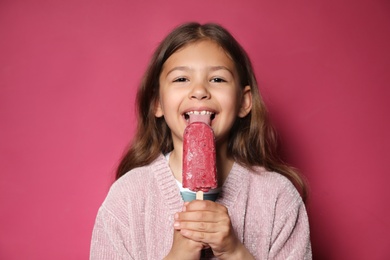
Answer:
MULTIPOLYGON (((182 182, 182 149, 172 150, 169 156, 169 167, 176 180, 182 182)), ((217 146, 217 174, 218 186, 225 182, 230 170, 233 167, 234 160, 227 156, 227 145, 217 146)))

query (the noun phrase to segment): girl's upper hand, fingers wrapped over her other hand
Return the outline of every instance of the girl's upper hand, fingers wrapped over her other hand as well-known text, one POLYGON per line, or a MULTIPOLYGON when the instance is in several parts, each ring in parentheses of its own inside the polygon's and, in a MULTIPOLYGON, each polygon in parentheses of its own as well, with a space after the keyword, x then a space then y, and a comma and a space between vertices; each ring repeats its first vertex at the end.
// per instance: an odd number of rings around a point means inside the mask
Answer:
POLYGON ((219 259, 251 259, 245 246, 236 237, 228 210, 221 204, 194 200, 184 204, 175 214, 174 228, 184 237, 211 247, 219 259), (249 257, 249 258, 248 258, 249 257))

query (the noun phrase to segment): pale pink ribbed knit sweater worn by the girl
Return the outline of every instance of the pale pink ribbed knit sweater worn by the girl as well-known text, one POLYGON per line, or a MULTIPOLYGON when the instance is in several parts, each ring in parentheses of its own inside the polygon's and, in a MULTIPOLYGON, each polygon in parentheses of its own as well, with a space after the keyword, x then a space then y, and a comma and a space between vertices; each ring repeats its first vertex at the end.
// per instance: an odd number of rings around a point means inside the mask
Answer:
MULTIPOLYGON (((305 206, 282 175, 235 163, 216 202, 227 207, 237 237, 255 259, 312 258, 305 206)), ((163 155, 133 169, 112 185, 99 209, 90 259, 163 259, 182 205, 163 155)))

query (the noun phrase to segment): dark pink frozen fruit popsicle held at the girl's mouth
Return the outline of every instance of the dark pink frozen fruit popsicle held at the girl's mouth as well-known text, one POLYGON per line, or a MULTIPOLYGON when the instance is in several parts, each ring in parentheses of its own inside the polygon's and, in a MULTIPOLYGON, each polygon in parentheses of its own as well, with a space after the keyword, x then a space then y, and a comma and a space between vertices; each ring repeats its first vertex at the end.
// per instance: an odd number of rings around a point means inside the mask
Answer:
POLYGON ((183 187, 209 191, 217 187, 215 137, 204 122, 192 122, 183 136, 183 187))

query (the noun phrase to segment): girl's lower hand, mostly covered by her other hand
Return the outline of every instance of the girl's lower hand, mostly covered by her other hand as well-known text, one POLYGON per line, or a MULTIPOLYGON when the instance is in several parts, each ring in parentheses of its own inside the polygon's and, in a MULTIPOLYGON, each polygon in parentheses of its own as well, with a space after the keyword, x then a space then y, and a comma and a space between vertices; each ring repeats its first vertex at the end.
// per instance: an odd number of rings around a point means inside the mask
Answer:
POLYGON ((169 254, 164 258, 164 260, 199 260, 200 251, 202 250, 202 248, 202 243, 188 239, 182 236, 182 234, 180 234, 180 231, 174 230, 172 248, 169 254))

